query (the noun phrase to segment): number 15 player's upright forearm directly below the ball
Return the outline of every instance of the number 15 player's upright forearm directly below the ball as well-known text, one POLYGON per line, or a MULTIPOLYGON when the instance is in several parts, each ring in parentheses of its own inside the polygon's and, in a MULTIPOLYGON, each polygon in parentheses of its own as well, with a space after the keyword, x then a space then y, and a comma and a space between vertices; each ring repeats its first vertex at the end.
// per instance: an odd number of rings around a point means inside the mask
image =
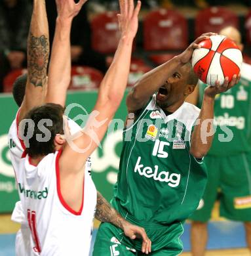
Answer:
POLYGON ((191 137, 190 153, 195 158, 203 158, 214 139, 214 97, 204 95, 201 113, 191 137))

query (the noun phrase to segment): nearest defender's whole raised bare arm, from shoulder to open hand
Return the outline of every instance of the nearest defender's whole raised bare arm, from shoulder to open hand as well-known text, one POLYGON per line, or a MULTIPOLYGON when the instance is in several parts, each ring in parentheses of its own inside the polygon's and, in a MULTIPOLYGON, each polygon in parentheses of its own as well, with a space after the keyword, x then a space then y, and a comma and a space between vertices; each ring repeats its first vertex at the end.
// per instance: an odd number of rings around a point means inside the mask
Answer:
POLYGON ((79 138, 73 140, 73 144, 79 150, 68 144, 62 153, 61 163, 68 171, 80 171, 85 160, 98 146, 106 131, 109 121, 114 116, 125 93, 127 84, 132 43, 138 30, 138 13, 141 2, 138 1, 134 9, 133 0, 120 0, 121 14, 119 24, 121 28, 121 39, 113 62, 107 71, 98 93, 98 100, 94 111, 88 119, 87 125, 79 138))

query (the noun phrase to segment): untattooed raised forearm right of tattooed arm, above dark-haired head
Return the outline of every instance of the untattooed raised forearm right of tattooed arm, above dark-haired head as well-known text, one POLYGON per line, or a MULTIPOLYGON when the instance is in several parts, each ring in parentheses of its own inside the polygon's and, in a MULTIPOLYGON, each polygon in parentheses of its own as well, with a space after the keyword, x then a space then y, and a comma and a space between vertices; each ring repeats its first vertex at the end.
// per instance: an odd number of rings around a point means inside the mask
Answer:
POLYGON ((72 18, 57 18, 50 65, 48 70, 47 102, 64 106, 66 91, 71 80, 71 32, 72 18))

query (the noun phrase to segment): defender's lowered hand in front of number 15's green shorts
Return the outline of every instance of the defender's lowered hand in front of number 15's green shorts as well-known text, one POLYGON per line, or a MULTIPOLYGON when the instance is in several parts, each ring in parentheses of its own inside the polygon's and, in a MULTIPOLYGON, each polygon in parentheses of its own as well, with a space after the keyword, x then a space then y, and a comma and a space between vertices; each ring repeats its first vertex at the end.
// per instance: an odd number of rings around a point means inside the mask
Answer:
POLYGON ((128 221, 123 222, 123 230, 128 238, 134 240, 135 238, 142 238, 142 253, 151 253, 151 240, 147 237, 144 228, 128 223, 128 221))

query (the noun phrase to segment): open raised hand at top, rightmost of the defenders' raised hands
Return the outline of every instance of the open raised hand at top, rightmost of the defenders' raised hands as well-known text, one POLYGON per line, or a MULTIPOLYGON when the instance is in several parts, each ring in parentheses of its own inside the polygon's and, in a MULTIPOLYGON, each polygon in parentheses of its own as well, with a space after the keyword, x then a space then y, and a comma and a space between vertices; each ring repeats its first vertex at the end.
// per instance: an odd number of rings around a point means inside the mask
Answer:
POLYGON ((138 31, 138 14, 140 12, 141 1, 138 1, 134 9, 133 0, 119 0, 121 13, 117 14, 121 36, 134 38, 138 31))

